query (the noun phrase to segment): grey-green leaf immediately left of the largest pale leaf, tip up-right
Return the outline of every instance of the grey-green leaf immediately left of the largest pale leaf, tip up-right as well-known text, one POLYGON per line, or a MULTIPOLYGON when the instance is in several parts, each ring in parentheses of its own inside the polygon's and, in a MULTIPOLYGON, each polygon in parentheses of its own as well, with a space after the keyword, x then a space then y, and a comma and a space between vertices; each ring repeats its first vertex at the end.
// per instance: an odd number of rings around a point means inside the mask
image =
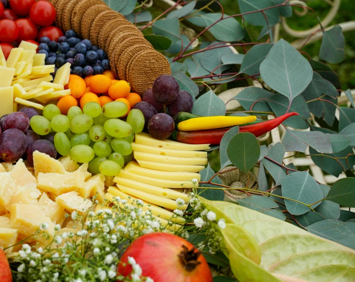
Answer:
POLYGON ((239 73, 256 75, 260 73, 260 65, 272 48, 272 44, 258 44, 253 46, 244 56, 239 73))

